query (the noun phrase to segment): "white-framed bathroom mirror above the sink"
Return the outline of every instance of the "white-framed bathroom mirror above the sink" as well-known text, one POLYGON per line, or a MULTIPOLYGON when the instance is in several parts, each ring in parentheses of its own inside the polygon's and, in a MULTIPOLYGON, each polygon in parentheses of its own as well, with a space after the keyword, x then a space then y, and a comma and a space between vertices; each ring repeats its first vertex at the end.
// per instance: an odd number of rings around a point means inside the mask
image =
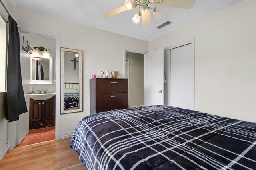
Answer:
POLYGON ((30 84, 52 84, 52 56, 30 56, 30 84))

